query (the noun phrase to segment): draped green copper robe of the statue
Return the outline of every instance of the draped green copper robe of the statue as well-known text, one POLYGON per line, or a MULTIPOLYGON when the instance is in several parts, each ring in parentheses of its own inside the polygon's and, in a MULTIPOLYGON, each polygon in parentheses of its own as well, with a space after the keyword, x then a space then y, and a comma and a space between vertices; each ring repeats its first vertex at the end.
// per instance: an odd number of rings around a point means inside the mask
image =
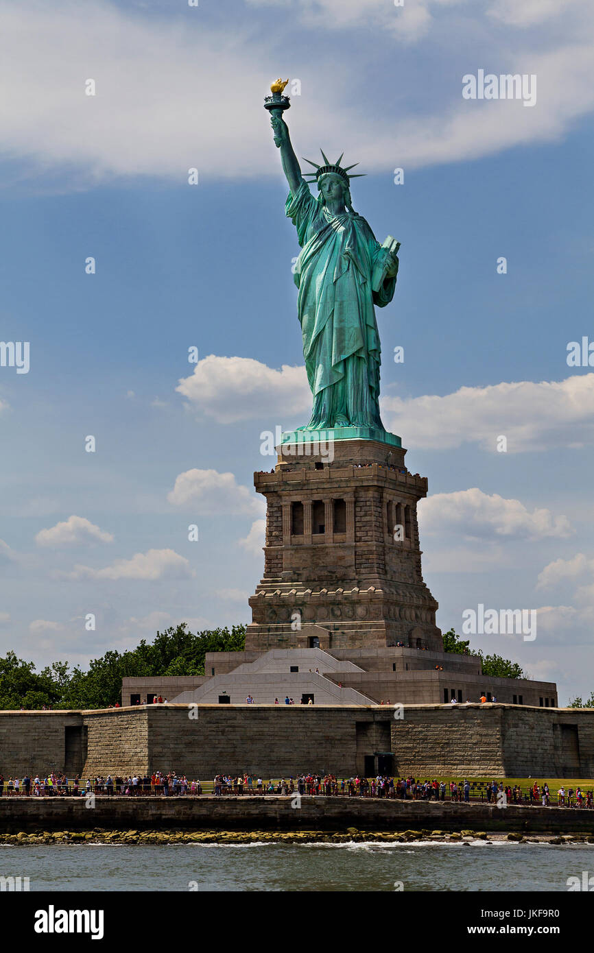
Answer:
MULTIPOLYGON (((307 429, 383 430, 379 417, 380 347, 374 305, 389 304, 396 277, 379 292, 371 280, 381 246, 354 212, 332 215, 302 181, 286 213, 297 227, 297 313, 314 410, 307 429)), ((381 253, 383 254, 383 253, 381 253)))

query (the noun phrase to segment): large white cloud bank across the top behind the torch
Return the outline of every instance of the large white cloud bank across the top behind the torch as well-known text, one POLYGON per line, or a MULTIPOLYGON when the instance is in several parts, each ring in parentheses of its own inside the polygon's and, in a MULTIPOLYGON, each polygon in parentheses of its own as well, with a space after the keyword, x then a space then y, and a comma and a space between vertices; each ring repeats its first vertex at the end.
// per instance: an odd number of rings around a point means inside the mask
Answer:
MULTIPOLYGON (((254 121, 253 104, 261 103, 270 79, 271 49, 284 42, 296 17, 310 28, 293 55, 309 91, 298 102, 296 120, 303 152, 308 144, 327 141, 328 114, 317 95, 324 89, 332 89, 336 100, 336 146, 349 142, 368 170, 391 169, 394 156, 414 168, 556 140, 594 109, 592 13, 586 0, 574 0, 570 8, 560 2, 556 9, 551 0, 538 5, 537 0, 520 5, 418 0, 402 8, 386 0, 306 0, 275 3, 274 14, 267 6, 252 0, 246 9, 237 7, 230 31, 224 12, 217 21, 216 8, 205 19, 187 7, 179 16, 143 15, 105 0, 90 6, 4 0, 10 44, 0 81, 11 90, 0 106, 5 152, 29 161, 31 179, 39 169, 63 168, 77 188, 118 175, 158 175, 181 183, 197 166, 207 178, 237 179, 262 170, 277 175, 274 147, 254 121), (525 12, 514 13, 518 7, 525 12), (506 30, 493 30, 494 19, 506 30), (539 29, 525 29, 532 24, 539 29), (379 124, 369 109, 369 87, 361 87, 351 69, 353 47, 343 39, 348 30, 357 38, 363 72, 368 64, 394 69, 393 51, 380 47, 378 36, 391 34, 405 44, 423 37, 414 54, 424 75, 422 101, 433 113, 419 115, 415 95, 396 95, 393 102, 384 97, 385 122, 379 124), (344 55, 320 55, 323 42, 342 42, 344 55), (448 51, 446 70, 432 70, 436 50, 448 51), (476 70, 478 55, 496 72, 538 74, 537 107, 462 100, 461 77, 476 70), (444 74, 449 82, 443 82, 444 74), (212 94, 227 89, 230 76, 241 77, 233 123, 212 94), (85 94, 87 78, 96 83, 94 96, 85 94)), ((406 50, 400 50, 397 88, 409 65, 406 50)), ((25 174, 20 165, 19 177, 25 174)))

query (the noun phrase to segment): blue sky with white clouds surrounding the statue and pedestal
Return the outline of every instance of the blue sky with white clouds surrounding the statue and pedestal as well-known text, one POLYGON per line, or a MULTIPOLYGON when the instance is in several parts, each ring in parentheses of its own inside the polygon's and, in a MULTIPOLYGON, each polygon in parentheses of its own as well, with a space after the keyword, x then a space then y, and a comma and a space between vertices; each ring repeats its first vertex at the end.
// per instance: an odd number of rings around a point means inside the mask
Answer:
POLYGON ((401 242, 382 414, 429 478, 439 624, 538 609, 534 641, 472 644, 589 695, 594 372, 566 347, 594 340, 594 13, 517 7, 0 0, 0 337, 31 344, 29 374, 0 368, 1 653, 86 664, 249 620, 259 435, 310 407, 262 109, 281 72, 297 154, 358 161, 356 210, 401 242), (535 74, 536 105, 462 99, 479 69, 535 74))

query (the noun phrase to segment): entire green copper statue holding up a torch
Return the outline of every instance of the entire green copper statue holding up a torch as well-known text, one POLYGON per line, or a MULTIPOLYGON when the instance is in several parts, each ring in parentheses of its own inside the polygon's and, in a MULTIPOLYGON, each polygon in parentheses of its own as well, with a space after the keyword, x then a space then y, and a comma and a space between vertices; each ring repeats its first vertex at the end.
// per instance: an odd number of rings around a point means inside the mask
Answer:
POLYGON ((332 430, 335 439, 376 439, 400 446, 399 437, 385 431, 379 416, 380 347, 374 307, 383 308, 392 300, 399 245, 391 238, 380 245, 354 211, 349 181, 354 176, 348 174, 354 166, 342 168, 342 156, 331 163, 322 152, 322 165, 310 163, 316 169, 309 174, 319 195, 310 192, 282 118, 288 98, 280 91, 273 90, 266 108, 289 183, 286 213, 297 228, 301 248, 295 267, 297 313, 314 395, 307 426, 283 434, 282 442, 310 442, 319 431, 332 430))

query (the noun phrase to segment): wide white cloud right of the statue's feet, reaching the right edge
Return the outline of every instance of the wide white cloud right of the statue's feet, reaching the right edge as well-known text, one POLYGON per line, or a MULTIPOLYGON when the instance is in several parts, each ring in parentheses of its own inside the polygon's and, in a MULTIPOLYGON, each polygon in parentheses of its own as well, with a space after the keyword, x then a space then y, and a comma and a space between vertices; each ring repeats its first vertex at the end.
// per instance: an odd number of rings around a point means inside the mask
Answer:
POLYGON ((461 387, 442 397, 384 397, 381 408, 387 429, 414 434, 417 447, 451 449, 470 442, 495 453, 501 435, 511 454, 575 447, 594 437, 594 374, 461 387))

